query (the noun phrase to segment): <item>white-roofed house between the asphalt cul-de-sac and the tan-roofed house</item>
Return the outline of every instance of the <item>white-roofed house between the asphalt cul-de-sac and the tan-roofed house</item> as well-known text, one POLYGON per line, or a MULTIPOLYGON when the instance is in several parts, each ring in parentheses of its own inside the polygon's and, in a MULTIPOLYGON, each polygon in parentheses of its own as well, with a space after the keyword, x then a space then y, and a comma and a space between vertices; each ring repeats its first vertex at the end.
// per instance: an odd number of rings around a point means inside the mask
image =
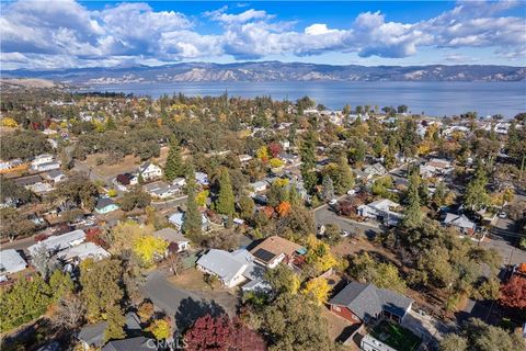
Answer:
POLYGON ((254 264, 254 257, 245 249, 233 252, 210 249, 196 262, 199 271, 216 275, 226 287, 248 281, 262 281, 264 269, 254 264))

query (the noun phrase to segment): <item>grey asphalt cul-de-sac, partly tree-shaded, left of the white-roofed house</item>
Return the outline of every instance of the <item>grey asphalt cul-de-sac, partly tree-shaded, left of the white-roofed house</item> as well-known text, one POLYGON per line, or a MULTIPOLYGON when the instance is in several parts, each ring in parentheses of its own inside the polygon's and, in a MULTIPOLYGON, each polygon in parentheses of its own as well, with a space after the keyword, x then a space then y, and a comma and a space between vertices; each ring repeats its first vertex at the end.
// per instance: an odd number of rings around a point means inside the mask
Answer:
POLYGON ((202 316, 207 314, 218 316, 226 313, 215 299, 202 297, 171 284, 167 281, 167 273, 160 270, 148 274, 140 291, 157 308, 162 309, 174 320, 175 327, 181 332, 202 316))

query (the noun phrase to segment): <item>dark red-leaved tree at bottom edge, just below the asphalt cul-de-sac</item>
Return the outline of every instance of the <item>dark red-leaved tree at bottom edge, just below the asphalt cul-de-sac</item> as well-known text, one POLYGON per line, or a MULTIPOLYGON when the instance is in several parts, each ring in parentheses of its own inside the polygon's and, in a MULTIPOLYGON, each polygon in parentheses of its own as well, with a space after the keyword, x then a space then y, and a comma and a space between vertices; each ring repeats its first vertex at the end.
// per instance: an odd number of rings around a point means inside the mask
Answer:
POLYGON ((228 316, 198 318, 184 335, 186 350, 265 351, 263 338, 228 316))

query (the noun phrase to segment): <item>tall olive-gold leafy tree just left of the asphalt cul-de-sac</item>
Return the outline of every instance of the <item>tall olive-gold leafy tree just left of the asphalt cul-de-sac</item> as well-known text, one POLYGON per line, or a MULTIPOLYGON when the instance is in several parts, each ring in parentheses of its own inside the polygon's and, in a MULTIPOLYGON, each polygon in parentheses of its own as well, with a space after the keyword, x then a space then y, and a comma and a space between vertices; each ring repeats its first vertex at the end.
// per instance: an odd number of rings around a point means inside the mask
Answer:
MULTIPOLYGON (((81 296, 87 305, 88 319, 100 320, 110 308, 118 306, 124 297, 121 261, 105 259, 82 262, 80 270, 81 296)), ((115 310, 114 310, 115 313, 115 310)))

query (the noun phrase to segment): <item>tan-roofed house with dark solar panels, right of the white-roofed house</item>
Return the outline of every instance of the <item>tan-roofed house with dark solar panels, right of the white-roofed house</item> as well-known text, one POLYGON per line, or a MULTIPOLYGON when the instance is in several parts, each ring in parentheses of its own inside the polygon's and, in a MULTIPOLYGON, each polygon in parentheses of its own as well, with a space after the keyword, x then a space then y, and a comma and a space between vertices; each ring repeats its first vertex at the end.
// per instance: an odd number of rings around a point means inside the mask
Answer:
POLYGON ((273 269, 282 261, 291 263, 296 256, 305 254, 306 249, 285 238, 272 236, 255 246, 250 253, 254 257, 255 263, 273 269))

